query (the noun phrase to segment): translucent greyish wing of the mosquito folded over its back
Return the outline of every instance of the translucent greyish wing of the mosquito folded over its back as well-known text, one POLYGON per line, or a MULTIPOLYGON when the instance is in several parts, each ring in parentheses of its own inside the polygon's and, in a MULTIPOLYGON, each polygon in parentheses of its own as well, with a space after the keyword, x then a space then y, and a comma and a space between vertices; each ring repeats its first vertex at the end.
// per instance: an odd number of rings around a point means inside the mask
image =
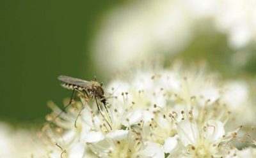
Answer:
POLYGON ((88 81, 81 80, 79 78, 73 78, 73 77, 70 77, 70 76, 58 76, 58 79, 65 82, 65 83, 73 84, 73 85, 79 85, 79 86, 85 87, 87 89, 90 89, 91 86, 92 86, 92 84, 88 81))

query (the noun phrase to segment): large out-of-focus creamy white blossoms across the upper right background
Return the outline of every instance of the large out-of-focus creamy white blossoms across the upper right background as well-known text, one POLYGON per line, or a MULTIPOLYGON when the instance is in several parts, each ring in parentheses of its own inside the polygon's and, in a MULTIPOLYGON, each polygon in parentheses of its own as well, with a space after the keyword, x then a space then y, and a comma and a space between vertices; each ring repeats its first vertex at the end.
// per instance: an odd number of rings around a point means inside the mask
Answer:
POLYGON ((226 34, 232 50, 244 50, 256 43, 255 6, 255 0, 131 1, 104 17, 92 45, 94 59, 108 74, 156 52, 177 54, 202 24, 226 34))

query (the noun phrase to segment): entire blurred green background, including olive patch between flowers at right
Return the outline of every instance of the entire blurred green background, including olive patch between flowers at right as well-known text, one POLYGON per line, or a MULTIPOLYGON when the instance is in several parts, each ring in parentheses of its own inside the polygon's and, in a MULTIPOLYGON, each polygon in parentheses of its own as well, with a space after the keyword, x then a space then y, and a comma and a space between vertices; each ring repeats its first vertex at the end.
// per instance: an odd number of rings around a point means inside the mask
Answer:
MULTIPOLYGON (((106 82, 108 78, 93 61, 91 47, 99 30, 104 28, 107 12, 126 4, 120 1, 1 1, 0 120, 43 122, 51 111, 47 101, 63 106, 63 98, 71 94, 70 90, 60 87, 59 75, 84 80, 92 80, 96 75, 100 82, 106 82)), ((243 48, 242 52, 252 52, 250 59, 243 66, 236 66, 231 58, 236 50, 228 46, 227 34, 214 31, 210 21, 198 24, 193 30, 193 39, 176 57, 188 65, 205 60, 210 70, 219 71, 227 78, 255 76, 254 46, 243 48)), ((172 52, 167 54, 168 62, 176 59, 172 52)), ((113 61, 111 57, 109 60, 113 61)))

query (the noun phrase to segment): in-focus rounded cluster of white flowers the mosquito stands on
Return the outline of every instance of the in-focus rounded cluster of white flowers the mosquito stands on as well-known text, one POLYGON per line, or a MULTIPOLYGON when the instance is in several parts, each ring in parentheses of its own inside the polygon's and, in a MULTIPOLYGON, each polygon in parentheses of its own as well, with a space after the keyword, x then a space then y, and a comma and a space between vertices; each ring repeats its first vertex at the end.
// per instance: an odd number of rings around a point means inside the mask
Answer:
POLYGON ((59 157, 253 155, 254 148, 237 150, 234 146, 238 133, 243 130, 240 122, 234 120, 238 110, 232 111, 237 104, 245 104, 246 97, 243 92, 237 96, 236 92, 228 91, 230 87, 218 75, 207 75, 204 68, 184 71, 179 64, 169 69, 156 66, 118 72, 104 89, 108 111, 104 106, 97 110, 94 100, 83 97, 81 101, 73 101, 66 113, 49 103, 52 113, 47 119, 54 124, 43 131, 52 142, 47 147, 54 151, 46 154, 59 154, 59 157), (230 97, 240 102, 234 103, 230 97), (60 117, 56 118, 59 113, 60 117))

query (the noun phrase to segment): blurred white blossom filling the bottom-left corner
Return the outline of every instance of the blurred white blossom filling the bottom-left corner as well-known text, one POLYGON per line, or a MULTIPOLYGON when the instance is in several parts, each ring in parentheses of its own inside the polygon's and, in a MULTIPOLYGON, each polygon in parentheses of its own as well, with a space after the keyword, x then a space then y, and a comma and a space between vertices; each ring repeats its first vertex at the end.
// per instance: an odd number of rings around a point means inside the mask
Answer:
POLYGON ((59 157, 61 152, 49 141, 41 140, 35 129, 12 127, 0 122, 0 157, 59 157), (57 150, 56 150, 57 149, 57 150))

